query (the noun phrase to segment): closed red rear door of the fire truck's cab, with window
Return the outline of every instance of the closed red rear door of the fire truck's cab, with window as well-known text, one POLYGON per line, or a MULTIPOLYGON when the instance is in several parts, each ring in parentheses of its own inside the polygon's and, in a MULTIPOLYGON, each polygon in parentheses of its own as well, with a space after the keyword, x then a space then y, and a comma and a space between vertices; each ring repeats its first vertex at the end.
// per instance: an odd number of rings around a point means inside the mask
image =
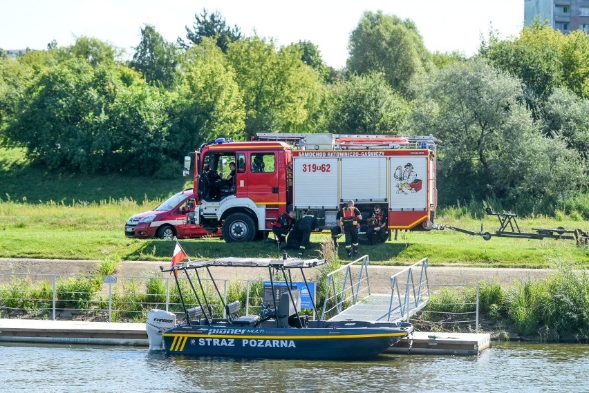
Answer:
POLYGON ((256 204, 275 207, 279 202, 277 154, 265 151, 248 155, 247 197, 256 204))

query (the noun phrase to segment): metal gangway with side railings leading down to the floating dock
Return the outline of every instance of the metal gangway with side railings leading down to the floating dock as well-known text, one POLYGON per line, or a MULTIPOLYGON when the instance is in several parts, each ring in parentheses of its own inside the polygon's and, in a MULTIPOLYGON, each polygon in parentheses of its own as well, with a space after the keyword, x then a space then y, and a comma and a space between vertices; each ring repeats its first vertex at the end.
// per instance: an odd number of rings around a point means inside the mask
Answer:
POLYGON ((327 275, 321 320, 405 322, 427 305, 427 258, 391 276, 390 294, 371 293, 369 264, 365 255, 327 275))

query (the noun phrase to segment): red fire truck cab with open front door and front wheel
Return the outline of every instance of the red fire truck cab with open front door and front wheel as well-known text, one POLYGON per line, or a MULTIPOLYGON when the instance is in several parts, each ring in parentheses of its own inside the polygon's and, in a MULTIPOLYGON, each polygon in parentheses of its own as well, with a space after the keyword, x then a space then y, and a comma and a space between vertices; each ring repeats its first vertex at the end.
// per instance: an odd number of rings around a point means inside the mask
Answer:
MULTIPOLYGON (((185 174, 190 161, 187 156, 185 174)), ((292 147, 286 143, 220 138, 203 144, 195 162, 196 219, 204 227, 221 227, 227 242, 263 236, 290 202, 292 147)))

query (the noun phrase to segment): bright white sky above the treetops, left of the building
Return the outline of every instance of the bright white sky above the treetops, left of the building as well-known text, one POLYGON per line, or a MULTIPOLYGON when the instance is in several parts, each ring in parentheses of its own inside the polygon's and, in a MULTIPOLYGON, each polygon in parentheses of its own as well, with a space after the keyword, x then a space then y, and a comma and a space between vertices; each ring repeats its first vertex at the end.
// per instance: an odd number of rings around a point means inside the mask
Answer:
POLYGON ((432 52, 466 56, 474 55, 489 28, 507 39, 523 26, 523 0, 13 0, 0 6, 0 48, 45 49, 53 39, 69 46, 87 36, 131 57, 144 25, 176 42, 203 9, 220 12, 246 36, 256 33, 278 45, 311 41, 334 68, 346 64, 350 32, 367 10, 413 20, 432 52))

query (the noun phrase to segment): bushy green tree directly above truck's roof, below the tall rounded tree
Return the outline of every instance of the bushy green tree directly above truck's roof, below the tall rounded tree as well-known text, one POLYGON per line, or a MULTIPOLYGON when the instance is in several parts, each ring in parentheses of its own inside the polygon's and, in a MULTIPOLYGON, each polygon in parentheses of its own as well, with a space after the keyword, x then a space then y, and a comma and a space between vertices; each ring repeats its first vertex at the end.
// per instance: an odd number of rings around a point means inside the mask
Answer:
POLYGON ((386 83, 384 75, 353 76, 334 86, 327 120, 330 133, 403 134, 409 104, 386 83))

